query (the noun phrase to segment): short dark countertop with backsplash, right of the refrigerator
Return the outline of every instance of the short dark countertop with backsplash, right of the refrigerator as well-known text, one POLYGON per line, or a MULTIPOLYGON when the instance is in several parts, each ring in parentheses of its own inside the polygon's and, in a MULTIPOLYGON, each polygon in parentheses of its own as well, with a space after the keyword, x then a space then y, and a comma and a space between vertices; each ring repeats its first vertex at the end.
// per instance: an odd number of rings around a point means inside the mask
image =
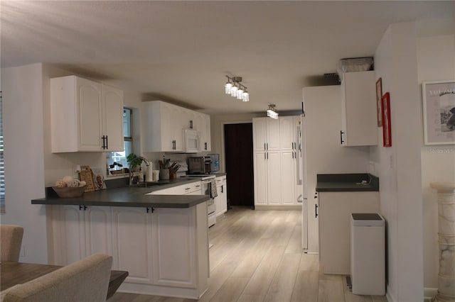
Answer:
POLYGON ((379 178, 368 173, 318 174, 316 191, 379 191, 379 178))

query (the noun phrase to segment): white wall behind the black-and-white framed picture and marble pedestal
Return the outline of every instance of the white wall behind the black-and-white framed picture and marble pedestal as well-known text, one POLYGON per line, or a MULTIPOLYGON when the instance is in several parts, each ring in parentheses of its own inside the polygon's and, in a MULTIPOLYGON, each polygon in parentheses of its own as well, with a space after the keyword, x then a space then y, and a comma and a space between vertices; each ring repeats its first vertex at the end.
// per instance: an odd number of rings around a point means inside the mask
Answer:
MULTIPOLYGON (((455 35, 417 39, 418 81, 455 80, 455 35)), ((420 94, 420 96, 422 96, 420 94)), ((422 98, 420 98, 422 110, 422 98)), ((422 122, 421 122, 422 123, 422 122)), ((423 124, 422 124, 423 127, 423 124)), ((423 128, 422 128, 423 129, 423 128)), ((436 289, 439 269, 437 194, 432 181, 455 182, 455 145, 423 145, 422 193, 424 227, 424 287, 436 289)))

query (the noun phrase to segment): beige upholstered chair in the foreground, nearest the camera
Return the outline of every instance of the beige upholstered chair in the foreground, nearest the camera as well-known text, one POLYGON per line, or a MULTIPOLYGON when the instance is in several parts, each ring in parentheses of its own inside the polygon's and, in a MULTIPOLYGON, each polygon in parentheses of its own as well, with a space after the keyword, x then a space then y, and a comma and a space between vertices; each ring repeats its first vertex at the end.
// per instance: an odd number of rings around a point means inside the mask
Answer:
POLYGON ((106 301, 112 256, 95 254, 1 292, 3 302, 106 301))

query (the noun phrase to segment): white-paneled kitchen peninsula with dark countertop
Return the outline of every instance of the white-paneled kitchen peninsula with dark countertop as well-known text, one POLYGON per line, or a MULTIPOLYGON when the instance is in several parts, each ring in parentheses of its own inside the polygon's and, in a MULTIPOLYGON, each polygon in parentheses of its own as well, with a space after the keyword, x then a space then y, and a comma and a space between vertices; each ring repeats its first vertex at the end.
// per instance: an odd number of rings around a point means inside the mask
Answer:
POLYGON ((129 272, 119 291, 200 298, 208 284, 209 196, 149 194, 178 184, 33 199, 46 205, 49 263, 103 252, 112 269, 129 272))

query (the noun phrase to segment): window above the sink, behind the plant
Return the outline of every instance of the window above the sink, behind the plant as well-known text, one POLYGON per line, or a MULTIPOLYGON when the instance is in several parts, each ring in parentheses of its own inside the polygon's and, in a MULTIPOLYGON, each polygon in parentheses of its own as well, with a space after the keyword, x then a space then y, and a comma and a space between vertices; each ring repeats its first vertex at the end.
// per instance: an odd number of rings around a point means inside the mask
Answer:
POLYGON ((107 164, 109 166, 108 175, 122 174, 122 169, 128 167, 127 155, 129 155, 129 153, 134 153, 132 119, 132 108, 123 108, 124 150, 122 152, 107 152, 107 164))

